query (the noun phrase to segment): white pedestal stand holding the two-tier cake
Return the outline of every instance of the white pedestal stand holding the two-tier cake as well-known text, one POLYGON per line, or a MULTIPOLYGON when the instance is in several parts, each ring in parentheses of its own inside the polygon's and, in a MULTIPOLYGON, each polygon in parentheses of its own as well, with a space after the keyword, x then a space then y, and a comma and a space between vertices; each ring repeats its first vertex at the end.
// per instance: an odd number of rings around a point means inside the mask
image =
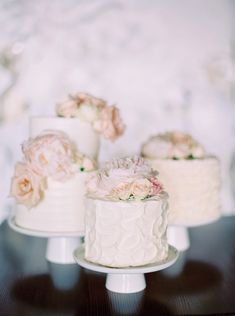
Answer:
POLYGON ((75 263, 73 251, 82 244, 82 232, 45 232, 26 229, 18 226, 15 222, 15 217, 9 217, 9 226, 20 234, 34 237, 48 238, 46 259, 58 264, 75 263))

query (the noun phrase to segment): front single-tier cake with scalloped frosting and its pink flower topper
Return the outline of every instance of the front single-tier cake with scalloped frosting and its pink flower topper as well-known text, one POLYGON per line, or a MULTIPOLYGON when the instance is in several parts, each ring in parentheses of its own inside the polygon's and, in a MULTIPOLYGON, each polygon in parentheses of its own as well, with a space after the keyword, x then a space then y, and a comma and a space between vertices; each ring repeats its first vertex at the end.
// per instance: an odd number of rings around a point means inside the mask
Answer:
POLYGON ((129 267, 166 259, 168 195, 142 159, 113 161, 87 189, 86 260, 129 267))

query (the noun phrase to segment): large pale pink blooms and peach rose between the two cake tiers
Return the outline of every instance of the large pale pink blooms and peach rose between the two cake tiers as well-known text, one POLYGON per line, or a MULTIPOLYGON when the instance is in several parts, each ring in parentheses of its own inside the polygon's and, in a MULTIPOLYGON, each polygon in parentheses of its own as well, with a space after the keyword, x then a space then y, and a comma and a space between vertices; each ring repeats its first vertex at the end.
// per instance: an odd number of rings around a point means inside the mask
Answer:
POLYGON ((91 171, 95 162, 80 154, 67 135, 45 131, 22 145, 24 158, 17 162, 11 181, 11 196, 28 208, 36 206, 47 189, 47 178, 64 182, 79 170, 91 171))

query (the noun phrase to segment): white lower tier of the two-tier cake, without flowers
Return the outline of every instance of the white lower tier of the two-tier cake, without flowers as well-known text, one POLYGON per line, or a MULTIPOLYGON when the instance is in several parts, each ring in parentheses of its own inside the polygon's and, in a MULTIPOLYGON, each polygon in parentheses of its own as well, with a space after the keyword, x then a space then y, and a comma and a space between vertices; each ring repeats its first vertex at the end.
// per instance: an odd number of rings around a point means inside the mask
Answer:
POLYGON ((78 173, 61 183, 48 179, 43 200, 30 210, 16 206, 16 224, 31 230, 84 233, 85 180, 87 173, 78 173))

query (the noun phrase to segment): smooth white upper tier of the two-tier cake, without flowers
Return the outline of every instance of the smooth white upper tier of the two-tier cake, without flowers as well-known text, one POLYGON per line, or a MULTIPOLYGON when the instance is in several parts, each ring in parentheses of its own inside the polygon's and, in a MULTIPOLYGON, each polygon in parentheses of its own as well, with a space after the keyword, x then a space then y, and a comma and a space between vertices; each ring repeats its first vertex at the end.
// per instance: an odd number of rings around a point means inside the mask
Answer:
POLYGON ((83 154, 97 159, 100 136, 89 122, 79 118, 64 117, 32 117, 30 119, 30 136, 36 137, 43 130, 59 130, 65 132, 83 154))

